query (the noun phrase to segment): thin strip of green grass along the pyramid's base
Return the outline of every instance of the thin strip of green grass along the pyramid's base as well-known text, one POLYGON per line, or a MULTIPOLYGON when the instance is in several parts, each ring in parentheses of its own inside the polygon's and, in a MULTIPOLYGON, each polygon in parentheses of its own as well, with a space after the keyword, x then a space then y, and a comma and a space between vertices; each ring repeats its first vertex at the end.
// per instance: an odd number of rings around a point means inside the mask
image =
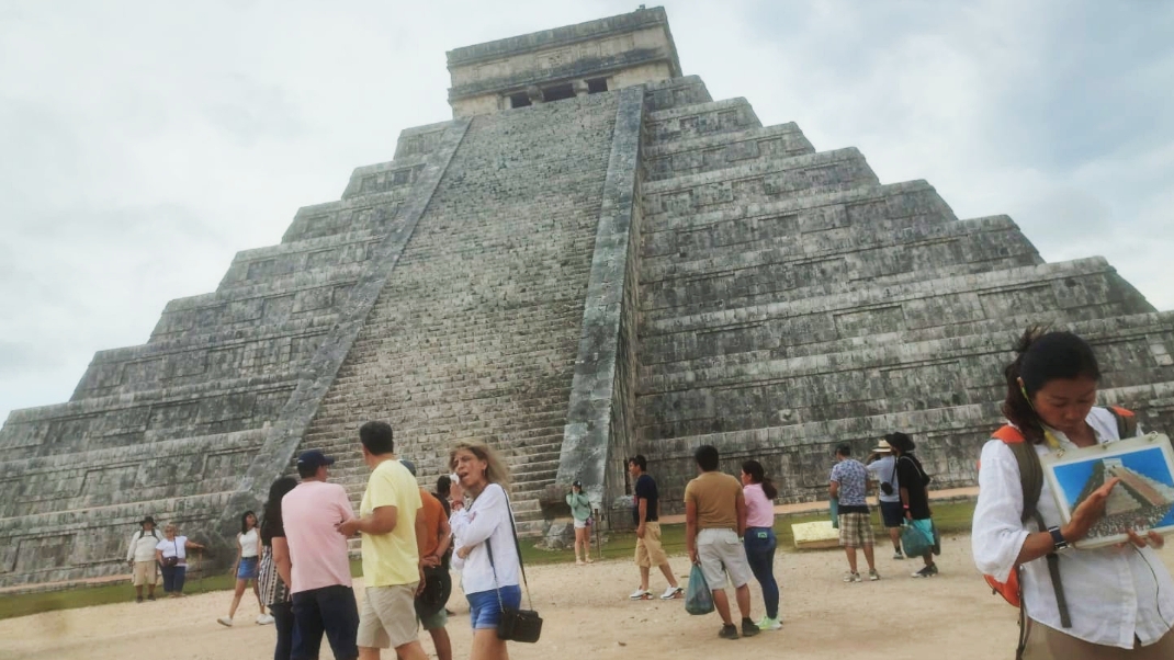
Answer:
MULTIPOLYGON (((943 533, 970 531, 970 520, 973 513, 973 502, 951 502, 933 505, 933 522, 943 533)), ((775 535, 778 537, 778 550, 781 552, 796 552, 795 538, 791 536, 792 524, 822 520, 825 516, 826 513, 809 513, 777 518, 775 520, 775 535)), ((880 526, 879 513, 872 516, 872 524, 877 538, 886 538, 884 529, 880 526)), ((661 542, 669 554, 684 554, 684 525, 664 525, 661 529, 661 542)), ((605 559, 630 559, 635 545, 636 537, 634 533, 613 533, 607 544, 603 545, 602 557, 605 559)), ((574 552, 569 549, 548 551, 533 547, 531 544, 522 544, 521 553, 525 563, 529 565, 574 562, 574 552)), ((595 552, 592 552, 592 554, 595 556, 595 552)), ((356 577, 363 574, 363 566, 359 562, 351 562, 351 574, 356 577)), ((234 581, 232 576, 227 573, 205 578, 189 578, 183 591, 188 594, 224 591, 232 588, 234 581)), ((162 585, 156 591, 158 594, 162 594, 162 585)), ((90 605, 127 603, 133 596, 134 590, 129 580, 103 586, 4 596, 0 597, 0 619, 25 617, 53 610, 72 610, 74 607, 89 607, 90 605)))

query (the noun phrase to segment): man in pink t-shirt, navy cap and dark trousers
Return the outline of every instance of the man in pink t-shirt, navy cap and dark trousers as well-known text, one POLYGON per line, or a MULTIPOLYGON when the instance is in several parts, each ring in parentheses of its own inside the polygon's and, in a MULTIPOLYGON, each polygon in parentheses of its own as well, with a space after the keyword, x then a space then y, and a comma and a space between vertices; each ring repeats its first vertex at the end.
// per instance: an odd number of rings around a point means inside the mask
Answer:
POLYGON ((335 529, 355 518, 355 510, 343 487, 326 483, 326 467, 333 462, 322 451, 303 451, 297 460, 302 483, 282 498, 298 632, 291 660, 316 660, 323 633, 336 660, 359 656, 355 642, 359 611, 351 588, 346 538, 335 529))

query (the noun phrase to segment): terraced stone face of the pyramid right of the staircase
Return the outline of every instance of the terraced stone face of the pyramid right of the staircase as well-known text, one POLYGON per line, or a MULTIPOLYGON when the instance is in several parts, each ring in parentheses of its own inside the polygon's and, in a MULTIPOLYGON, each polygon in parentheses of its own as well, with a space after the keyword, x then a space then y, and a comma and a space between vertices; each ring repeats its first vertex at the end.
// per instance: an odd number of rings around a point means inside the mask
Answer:
POLYGON ((1169 313, 1104 259, 1045 264, 1005 216, 958 220, 741 98, 646 120, 636 447, 680 511, 693 451, 754 457, 781 501, 826 497, 832 448, 911 433, 938 487, 974 483, 1023 328, 1072 327, 1104 402, 1174 430, 1169 313))

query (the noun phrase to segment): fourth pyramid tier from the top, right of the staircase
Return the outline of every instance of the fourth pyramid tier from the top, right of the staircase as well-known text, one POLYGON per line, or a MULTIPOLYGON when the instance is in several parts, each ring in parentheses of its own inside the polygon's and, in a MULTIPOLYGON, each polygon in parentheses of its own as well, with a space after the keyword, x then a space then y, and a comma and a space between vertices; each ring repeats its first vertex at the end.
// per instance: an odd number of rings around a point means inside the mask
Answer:
POLYGON ((864 156, 849 148, 649 182, 641 206, 655 226, 664 222, 661 215, 691 216, 878 183, 864 156))

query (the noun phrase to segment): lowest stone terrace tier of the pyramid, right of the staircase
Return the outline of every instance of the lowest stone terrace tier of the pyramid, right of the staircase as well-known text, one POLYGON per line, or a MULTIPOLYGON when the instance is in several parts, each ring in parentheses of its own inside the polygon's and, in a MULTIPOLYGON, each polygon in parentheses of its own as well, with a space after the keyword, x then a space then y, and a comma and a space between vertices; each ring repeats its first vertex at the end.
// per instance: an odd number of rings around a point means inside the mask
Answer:
MULTIPOLYGON (((1174 430, 1174 381, 1102 389, 1098 397, 1098 404, 1136 410, 1145 429, 1174 430)), ((662 512, 679 513, 684 485, 696 476, 693 453, 701 444, 717 448, 718 469, 727 474, 736 474, 749 458, 762 463, 778 487, 776 502, 811 502, 828 497, 828 475, 838 444, 850 444, 852 455, 863 458, 878 438, 893 430, 912 435, 932 489, 972 487, 983 444, 1004 423, 999 404, 985 402, 646 440, 637 450, 648 456, 662 512)))

